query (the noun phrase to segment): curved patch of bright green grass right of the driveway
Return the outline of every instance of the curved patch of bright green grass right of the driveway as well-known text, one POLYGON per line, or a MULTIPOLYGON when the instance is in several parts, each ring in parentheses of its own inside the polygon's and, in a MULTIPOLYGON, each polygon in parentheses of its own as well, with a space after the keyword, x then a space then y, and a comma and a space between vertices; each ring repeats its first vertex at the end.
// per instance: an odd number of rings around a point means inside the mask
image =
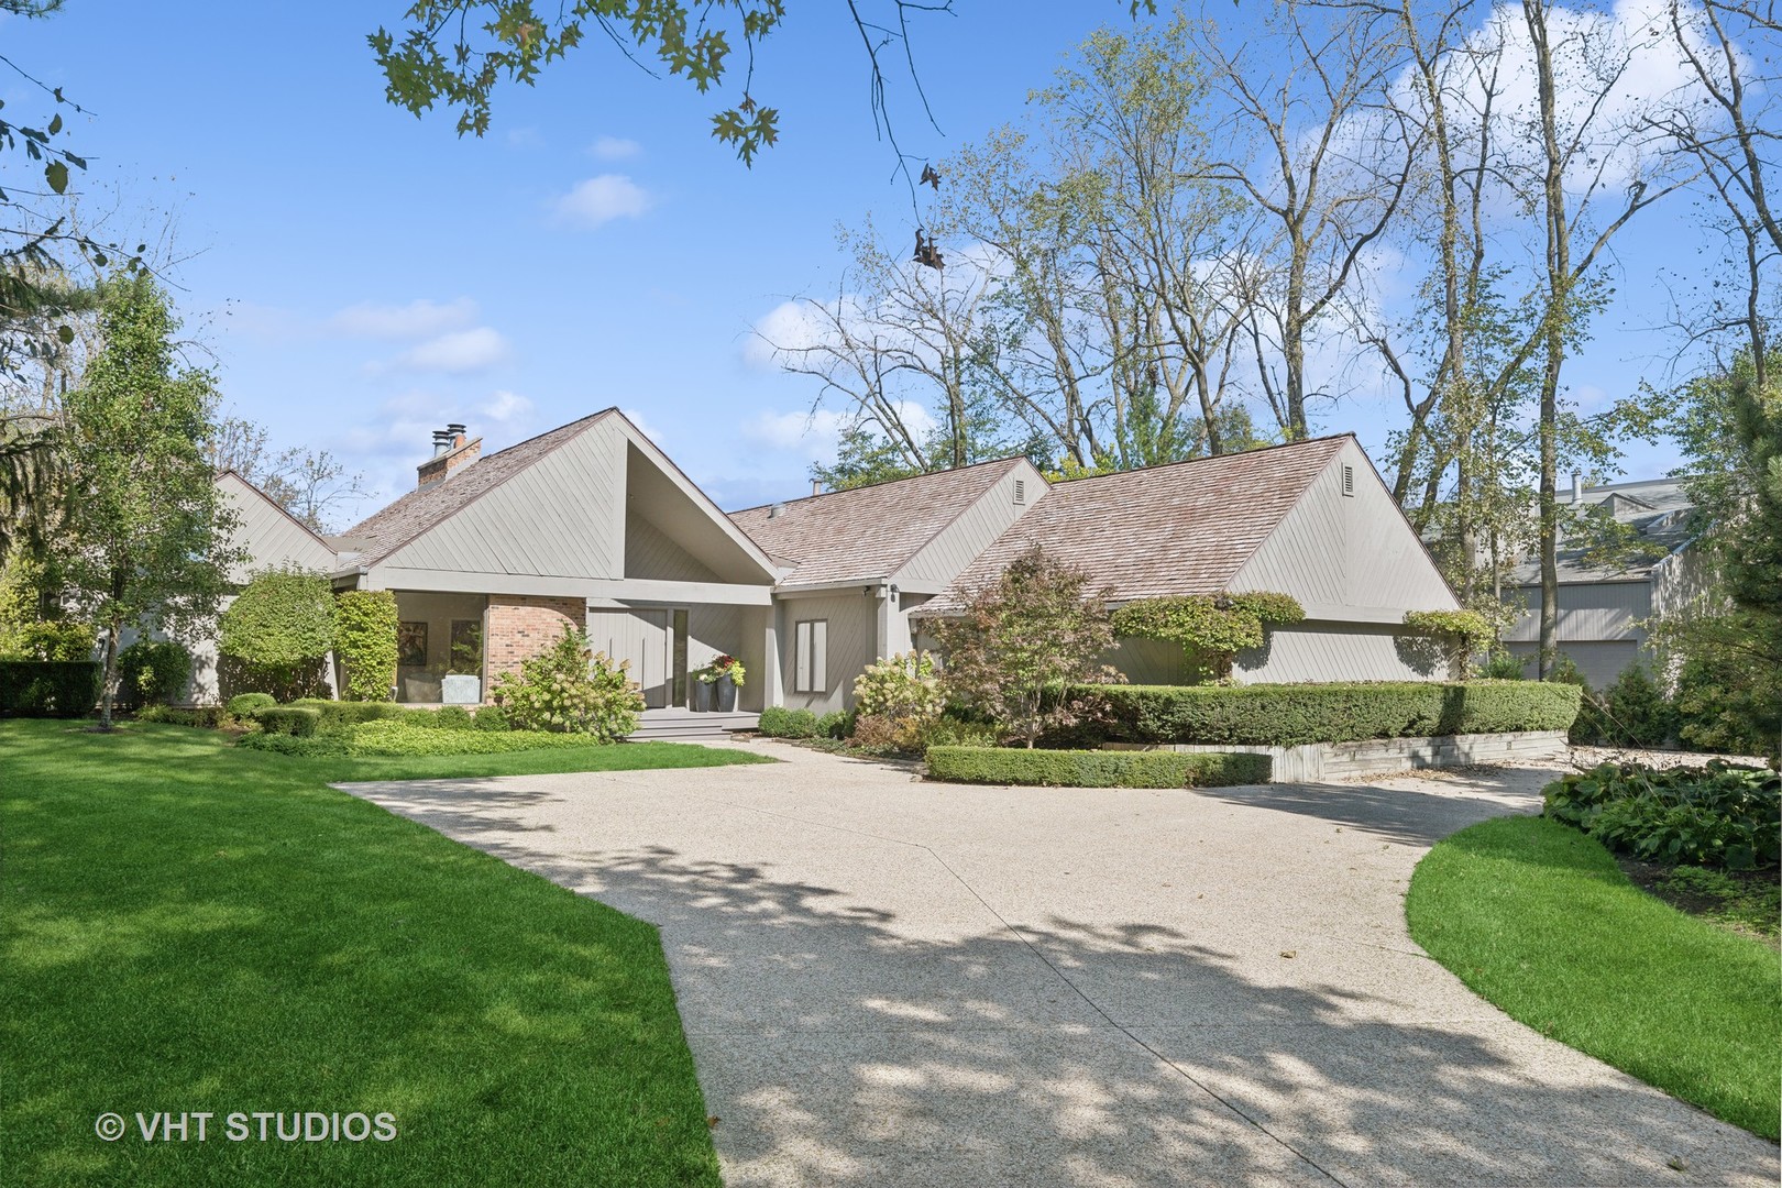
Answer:
POLYGON ((1484 821, 1411 876, 1411 937, 1511 1017, 1777 1138, 1782 969, 1768 946, 1634 887, 1598 842, 1484 821))

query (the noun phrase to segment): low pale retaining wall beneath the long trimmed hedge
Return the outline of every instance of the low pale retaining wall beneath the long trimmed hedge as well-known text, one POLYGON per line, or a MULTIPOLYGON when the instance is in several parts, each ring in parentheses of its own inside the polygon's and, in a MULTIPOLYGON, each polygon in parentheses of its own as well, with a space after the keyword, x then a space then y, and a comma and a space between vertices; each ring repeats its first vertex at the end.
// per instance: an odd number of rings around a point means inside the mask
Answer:
POLYGON ((1413 768, 1463 768, 1474 762, 1550 762, 1568 752, 1563 730, 1520 734, 1447 734, 1306 746, 1237 746, 1230 743, 1107 743, 1108 750, 1244 752, 1274 759, 1276 784, 1317 784, 1413 768))

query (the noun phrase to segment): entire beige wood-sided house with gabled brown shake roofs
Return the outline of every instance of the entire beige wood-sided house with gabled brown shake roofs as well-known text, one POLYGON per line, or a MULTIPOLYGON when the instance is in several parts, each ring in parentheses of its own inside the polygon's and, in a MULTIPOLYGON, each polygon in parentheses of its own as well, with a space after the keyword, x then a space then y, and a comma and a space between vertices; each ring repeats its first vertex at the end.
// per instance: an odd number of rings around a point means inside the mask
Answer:
MULTIPOLYGON (((296 547, 276 517, 253 525, 271 552, 296 547)), ((725 515, 617 410, 486 458, 447 426, 415 490, 328 538, 314 568, 396 593, 403 702, 438 702, 465 654, 486 696, 576 625, 627 661, 650 709, 688 705, 693 673, 729 654, 748 670, 740 711, 827 711, 1034 541, 1116 604, 1299 598, 1306 622, 1240 655, 1242 679, 1440 675, 1401 647, 1402 618, 1454 595, 1353 436, 1069 483, 1009 458, 725 515)), ((1171 645, 1123 641, 1114 659, 1137 680, 1181 675, 1171 645)))

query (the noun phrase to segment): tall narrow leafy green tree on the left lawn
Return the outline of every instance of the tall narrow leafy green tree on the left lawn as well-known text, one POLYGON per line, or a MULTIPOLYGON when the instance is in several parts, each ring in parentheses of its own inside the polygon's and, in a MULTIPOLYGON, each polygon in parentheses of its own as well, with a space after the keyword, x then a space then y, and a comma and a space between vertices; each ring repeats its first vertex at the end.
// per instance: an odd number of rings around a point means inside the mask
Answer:
POLYGON ((52 549, 64 593, 105 631, 103 728, 123 631, 201 631, 242 556, 203 456, 216 387, 178 363, 176 330, 148 278, 107 280, 102 346, 64 403, 71 499, 52 549))

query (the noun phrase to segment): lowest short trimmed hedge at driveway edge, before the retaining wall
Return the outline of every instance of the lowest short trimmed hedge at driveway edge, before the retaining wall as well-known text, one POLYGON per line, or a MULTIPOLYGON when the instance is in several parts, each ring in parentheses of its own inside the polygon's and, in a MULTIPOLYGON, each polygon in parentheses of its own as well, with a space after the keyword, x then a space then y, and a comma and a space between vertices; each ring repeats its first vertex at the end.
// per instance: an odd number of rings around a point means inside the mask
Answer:
POLYGON ((953 784, 1046 787, 1228 787, 1267 784, 1267 755, 1181 752, 1050 752, 1012 746, 930 746, 928 777, 953 784))

